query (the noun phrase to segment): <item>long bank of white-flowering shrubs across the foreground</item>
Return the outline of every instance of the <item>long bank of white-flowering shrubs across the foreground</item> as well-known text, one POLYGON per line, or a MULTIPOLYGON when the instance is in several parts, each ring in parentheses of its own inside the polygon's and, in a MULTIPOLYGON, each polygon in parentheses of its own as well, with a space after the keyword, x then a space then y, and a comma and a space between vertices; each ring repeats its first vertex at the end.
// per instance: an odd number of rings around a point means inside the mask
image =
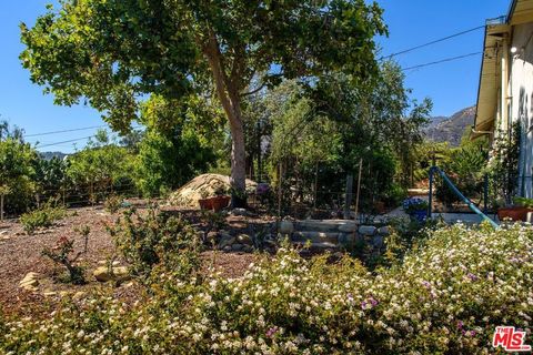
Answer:
MULTIPOLYGON (((273 258, 228 280, 163 273, 129 308, 109 296, 8 321, 7 354, 487 354, 497 325, 533 316, 533 229, 433 232, 402 264, 273 258)), ((2 326, 0 322, 0 326, 2 326)))

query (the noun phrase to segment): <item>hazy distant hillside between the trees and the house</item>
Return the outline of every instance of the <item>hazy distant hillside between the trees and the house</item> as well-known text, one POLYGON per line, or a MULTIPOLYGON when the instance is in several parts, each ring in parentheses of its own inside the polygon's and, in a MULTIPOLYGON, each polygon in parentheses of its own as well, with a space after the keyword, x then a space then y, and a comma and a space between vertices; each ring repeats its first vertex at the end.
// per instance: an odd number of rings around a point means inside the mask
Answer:
POLYGON ((450 118, 436 116, 425 129, 429 140, 435 142, 450 142, 451 146, 461 143, 464 130, 474 124, 475 106, 463 109, 450 118))

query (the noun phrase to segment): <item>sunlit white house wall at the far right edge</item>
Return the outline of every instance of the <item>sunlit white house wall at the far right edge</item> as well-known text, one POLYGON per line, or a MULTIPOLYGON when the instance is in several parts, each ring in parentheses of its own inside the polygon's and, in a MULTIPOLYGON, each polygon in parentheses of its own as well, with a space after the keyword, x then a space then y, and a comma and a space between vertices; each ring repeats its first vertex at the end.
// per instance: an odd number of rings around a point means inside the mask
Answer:
POLYGON ((519 191, 522 196, 533 197, 533 23, 514 27, 511 47, 511 120, 520 121, 522 138, 519 162, 519 191))

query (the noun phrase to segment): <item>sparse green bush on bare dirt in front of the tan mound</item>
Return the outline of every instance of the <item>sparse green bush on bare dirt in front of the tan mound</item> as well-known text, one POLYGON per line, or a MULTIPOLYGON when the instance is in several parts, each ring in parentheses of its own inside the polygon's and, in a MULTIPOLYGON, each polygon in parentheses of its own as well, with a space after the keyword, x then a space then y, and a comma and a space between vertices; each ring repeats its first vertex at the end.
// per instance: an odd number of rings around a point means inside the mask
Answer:
POLYGON ((154 207, 145 215, 130 209, 114 225, 108 226, 108 231, 134 275, 149 277, 155 266, 184 275, 199 265, 200 241, 181 217, 169 216, 154 207))

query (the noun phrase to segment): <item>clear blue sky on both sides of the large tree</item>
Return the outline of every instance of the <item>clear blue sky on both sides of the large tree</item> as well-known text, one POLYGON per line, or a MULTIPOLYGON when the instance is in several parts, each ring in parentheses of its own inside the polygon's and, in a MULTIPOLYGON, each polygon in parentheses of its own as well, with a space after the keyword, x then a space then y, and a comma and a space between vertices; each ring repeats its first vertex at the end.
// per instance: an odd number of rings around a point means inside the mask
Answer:
MULTIPOLYGON (((0 118, 26 130, 27 134, 102 125, 100 114, 91 108, 64 108, 53 104, 51 95, 32 84, 29 73, 18 59, 19 23, 32 26, 51 0, 4 1, 0 11, 0 118)), ((484 24, 485 19, 505 14, 510 0, 379 0, 385 10, 389 38, 380 38, 383 54, 394 53, 442 37, 484 24)), ((403 68, 445 58, 479 52, 483 45, 483 30, 398 55, 403 68)), ((433 115, 451 115, 475 103, 481 54, 406 71, 406 87, 412 97, 433 100, 433 115)), ((27 140, 41 145, 84 138, 95 129, 61 134, 31 136, 27 140)), ((81 140, 78 146, 82 146, 81 140)), ((73 143, 42 148, 42 151, 71 152, 73 143)))

